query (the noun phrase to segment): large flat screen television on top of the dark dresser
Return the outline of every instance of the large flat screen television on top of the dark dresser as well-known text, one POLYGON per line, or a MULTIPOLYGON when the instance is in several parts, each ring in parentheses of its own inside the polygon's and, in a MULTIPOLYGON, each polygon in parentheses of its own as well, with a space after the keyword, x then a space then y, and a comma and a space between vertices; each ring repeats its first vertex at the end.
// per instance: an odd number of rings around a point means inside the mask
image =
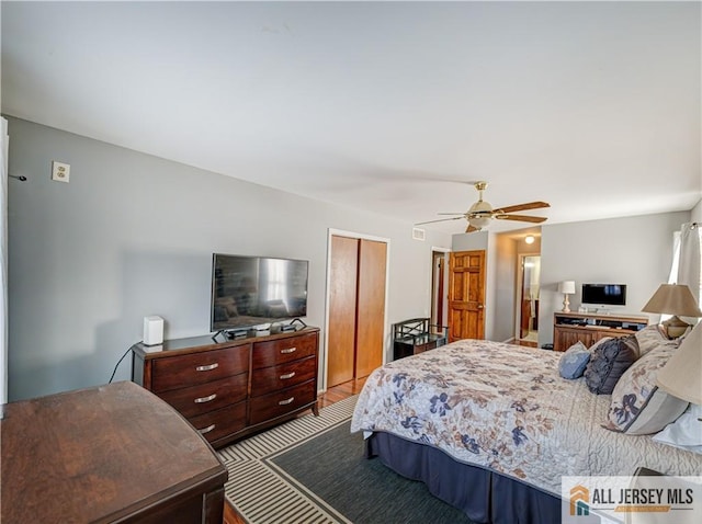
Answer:
POLYGON ((211 331, 305 317, 308 265, 306 260, 214 253, 211 331))

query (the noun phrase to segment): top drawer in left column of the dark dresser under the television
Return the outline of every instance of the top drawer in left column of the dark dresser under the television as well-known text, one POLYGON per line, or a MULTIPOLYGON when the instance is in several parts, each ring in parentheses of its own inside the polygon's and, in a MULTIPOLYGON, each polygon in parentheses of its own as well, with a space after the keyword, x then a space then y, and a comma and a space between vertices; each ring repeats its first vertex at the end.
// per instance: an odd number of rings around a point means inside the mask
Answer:
POLYGON ((245 373, 249 369, 249 349, 250 345, 246 344, 158 358, 154 362, 151 389, 155 392, 168 391, 245 373))

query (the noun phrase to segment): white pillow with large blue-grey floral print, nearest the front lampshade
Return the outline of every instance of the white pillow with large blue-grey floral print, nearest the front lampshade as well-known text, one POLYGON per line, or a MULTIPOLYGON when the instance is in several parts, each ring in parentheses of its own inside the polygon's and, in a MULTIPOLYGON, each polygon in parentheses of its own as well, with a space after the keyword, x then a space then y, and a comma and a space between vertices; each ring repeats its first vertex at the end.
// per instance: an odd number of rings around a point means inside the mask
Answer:
POLYGON ((675 349, 661 345, 636 361, 612 391, 608 430, 630 435, 647 435, 676 420, 688 402, 666 394, 656 386, 658 369, 666 365, 675 349))

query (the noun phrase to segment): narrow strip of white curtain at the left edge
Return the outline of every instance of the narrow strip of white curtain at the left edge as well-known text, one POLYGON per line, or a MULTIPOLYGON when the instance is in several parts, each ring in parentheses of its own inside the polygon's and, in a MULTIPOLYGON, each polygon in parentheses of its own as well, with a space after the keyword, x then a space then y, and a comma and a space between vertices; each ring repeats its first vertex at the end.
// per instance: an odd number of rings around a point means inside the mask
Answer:
POLYGON ((0 418, 8 401, 8 121, 0 118, 0 418))

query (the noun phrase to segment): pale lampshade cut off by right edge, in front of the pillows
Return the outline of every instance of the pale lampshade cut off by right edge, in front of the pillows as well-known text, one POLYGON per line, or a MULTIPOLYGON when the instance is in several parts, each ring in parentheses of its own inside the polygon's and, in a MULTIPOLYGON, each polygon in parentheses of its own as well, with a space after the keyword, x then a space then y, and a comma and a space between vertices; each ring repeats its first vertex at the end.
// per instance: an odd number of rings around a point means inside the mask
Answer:
POLYGON ((673 397, 702 405, 702 322, 682 340, 656 381, 673 397))

